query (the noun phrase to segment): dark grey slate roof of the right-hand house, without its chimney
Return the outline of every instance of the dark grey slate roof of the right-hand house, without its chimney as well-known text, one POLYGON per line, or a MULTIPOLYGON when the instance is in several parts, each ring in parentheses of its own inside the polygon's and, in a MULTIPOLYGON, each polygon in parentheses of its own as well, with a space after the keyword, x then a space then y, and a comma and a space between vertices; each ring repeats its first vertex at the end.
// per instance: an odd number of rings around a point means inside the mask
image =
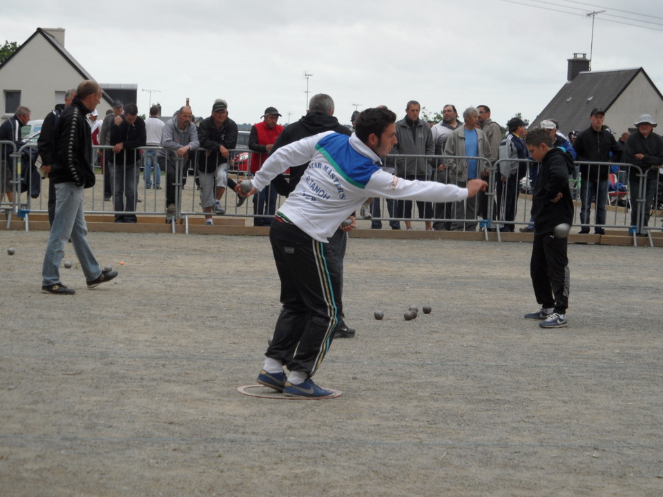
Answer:
MULTIPOLYGON (((571 130, 584 130, 589 123, 593 108, 602 108, 606 113, 633 79, 642 72, 658 92, 643 68, 579 72, 567 81, 557 95, 532 121, 530 129, 539 126, 544 119, 557 119, 559 130, 568 134, 571 130)), ((658 92, 660 95, 660 92, 658 92)), ((663 96, 662 96, 663 98, 663 96)))

